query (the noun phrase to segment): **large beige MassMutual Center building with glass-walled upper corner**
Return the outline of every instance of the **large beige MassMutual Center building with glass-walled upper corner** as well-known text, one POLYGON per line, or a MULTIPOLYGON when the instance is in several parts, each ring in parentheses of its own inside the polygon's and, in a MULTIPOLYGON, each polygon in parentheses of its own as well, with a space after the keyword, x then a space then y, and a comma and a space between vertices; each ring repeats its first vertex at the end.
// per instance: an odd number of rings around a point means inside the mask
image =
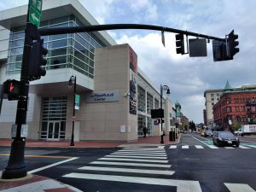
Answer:
MULTIPOLYGON (((0 11, 0 84, 20 80, 27 5, 0 11)), ((40 27, 98 25, 77 0, 43 1, 40 27)), ((129 44, 116 44, 107 32, 79 32, 44 36, 47 74, 30 84, 26 116, 28 139, 69 140, 74 121, 74 140, 134 141, 147 126, 150 135, 160 125, 150 118, 160 108, 156 88, 137 67, 137 54, 129 44), (73 117, 76 78, 79 109, 73 117)), ((172 102, 164 96, 164 131, 170 128, 172 102)), ((1 138, 10 138, 16 101, 3 101, 1 138)))

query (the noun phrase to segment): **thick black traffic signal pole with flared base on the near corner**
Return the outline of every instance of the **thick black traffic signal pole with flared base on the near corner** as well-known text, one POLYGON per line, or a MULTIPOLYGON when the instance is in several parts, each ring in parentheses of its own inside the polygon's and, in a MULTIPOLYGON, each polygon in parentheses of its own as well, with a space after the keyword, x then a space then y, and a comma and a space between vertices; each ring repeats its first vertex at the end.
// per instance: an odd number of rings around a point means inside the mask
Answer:
POLYGON ((24 163, 26 137, 21 137, 21 127, 22 125, 26 125, 26 111, 29 92, 28 68, 31 46, 32 41, 38 38, 38 35, 39 33, 37 31, 37 27, 33 26, 32 23, 30 23, 27 19, 22 66, 20 73, 21 89, 15 119, 15 125, 17 127, 16 135, 15 137, 13 137, 13 142, 11 143, 11 151, 9 155, 8 165, 4 168, 2 173, 3 179, 26 177, 27 174, 26 165, 24 163))

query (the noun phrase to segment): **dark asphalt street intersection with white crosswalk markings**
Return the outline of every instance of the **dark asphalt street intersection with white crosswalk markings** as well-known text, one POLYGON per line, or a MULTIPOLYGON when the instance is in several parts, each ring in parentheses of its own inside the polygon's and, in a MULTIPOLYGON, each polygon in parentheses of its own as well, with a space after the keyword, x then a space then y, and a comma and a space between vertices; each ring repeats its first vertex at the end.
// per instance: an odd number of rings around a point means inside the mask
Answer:
MULTIPOLYGON (((28 173, 82 191, 256 191, 256 139, 216 147, 211 137, 183 134, 158 148, 26 148, 28 173)), ((0 148, 0 169, 9 148, 0 148)))

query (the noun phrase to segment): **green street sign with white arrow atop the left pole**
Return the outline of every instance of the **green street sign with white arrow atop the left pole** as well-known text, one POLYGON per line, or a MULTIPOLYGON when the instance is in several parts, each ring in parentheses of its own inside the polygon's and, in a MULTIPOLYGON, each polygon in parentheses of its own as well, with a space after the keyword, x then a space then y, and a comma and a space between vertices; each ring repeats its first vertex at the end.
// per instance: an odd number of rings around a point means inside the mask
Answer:
POLYGON ((39 26, 42 12, 42 0, 30 0, 29 1, 29 21, 32 24, 39 26))

